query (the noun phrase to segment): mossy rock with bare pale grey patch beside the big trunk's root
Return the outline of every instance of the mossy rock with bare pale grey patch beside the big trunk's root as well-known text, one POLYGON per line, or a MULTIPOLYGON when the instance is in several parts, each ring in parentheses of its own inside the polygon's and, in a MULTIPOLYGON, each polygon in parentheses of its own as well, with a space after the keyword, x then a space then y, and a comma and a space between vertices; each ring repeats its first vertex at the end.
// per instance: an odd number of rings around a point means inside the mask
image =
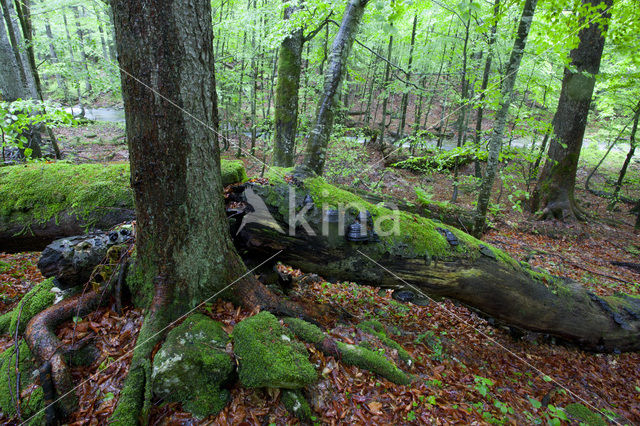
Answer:
POLYGON ((228 341, 220 323, 202 314, 187 317, 169 332, 153 359, 153 392, 181 402, 199 418, 218 413, 229 399, 221 386, 234 370, 224 351, 228 341))

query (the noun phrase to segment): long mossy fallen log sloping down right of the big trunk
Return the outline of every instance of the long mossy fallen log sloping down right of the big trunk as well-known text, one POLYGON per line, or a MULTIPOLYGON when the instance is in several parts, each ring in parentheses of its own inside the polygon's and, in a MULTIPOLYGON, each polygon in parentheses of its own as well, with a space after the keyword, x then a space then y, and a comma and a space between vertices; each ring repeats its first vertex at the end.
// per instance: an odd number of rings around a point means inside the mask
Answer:
POLYGON ((368 203, 322 178, 288 179, 297 183, 290 185, 282 178, 287 173, 275 170, 268 184, 243 188, 240 198, 255 205, 232 229, 245 259, 283 250, 279 261, 328 279, 452 298, 507 325, 589 350, 640 349, 638 297, 599 297, 453 227, 368 203), (349 241, 346 228, 365 210, 377 235, 349 241), (306 222, 297 220, 302 211, 306 222))

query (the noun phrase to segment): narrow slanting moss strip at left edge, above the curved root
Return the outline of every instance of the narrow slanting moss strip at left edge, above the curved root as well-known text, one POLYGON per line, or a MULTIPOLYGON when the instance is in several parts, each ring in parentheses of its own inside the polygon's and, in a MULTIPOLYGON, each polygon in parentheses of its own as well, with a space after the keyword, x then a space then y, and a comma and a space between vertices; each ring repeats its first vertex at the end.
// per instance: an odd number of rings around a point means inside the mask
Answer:
POLYGON ((31 318, 53 304, 56 295, 51 291, 52 288, 53 278, 48 278, 22 296, 15 308, 0 317, 0 333, 13 335, 17 325, 19 325, 19 333, 23 333, 31 318), (19 323, 18 314, 20 314, 19 323))

